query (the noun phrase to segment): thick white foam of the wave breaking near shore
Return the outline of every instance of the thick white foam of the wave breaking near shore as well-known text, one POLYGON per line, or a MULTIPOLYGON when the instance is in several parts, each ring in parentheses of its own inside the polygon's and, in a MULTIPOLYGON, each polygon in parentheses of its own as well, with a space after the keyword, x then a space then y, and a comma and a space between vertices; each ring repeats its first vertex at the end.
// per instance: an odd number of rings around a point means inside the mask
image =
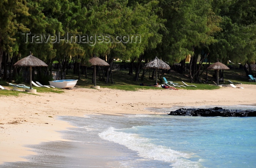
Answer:
POLYGON ((110 127, 99 133, 102 139, 113 141, 127 148, 137 151, 140 157, 152 160, 169 162, 173 168, 200 168, 200 161, 189 160, 193 153, 182 153, 172 150, 162 145, 155 145, 148 138, 138 136, 138 134, 124 133, 116 131, 110 127))

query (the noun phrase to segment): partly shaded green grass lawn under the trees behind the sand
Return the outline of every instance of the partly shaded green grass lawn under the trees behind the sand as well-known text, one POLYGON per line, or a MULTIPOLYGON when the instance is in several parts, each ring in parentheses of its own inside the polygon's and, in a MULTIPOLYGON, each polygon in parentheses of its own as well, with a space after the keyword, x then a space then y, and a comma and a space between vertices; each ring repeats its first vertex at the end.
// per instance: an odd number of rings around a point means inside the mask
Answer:
MULTIPOLYGON (((155 79, 149 79, 149 76, 151 76, 150 72, 152 70, 148 70, 144 79, 142 80, 139 78, 138 81, 133 81, 134 74, 128 75, 128 70, 124 71, 113 71, 113 83, 111 83, 111 80, 109 83, 105 83, 105 80, 100 80, 97 76, 97 86, 100 86, 102 88, 107 87, 110 89, 120 89, 120 90, 130 90, 130 91, 136 91, 139 89, 155 89, 159 90, 162 88, 159 87, 151 87, 151 86, 140 86, 140 83, 144 83, 146 85, 153 85, 155 83, 155 79)), ((87 70, 87 78, 85 78, 85 75, 81 75, 81 79, 78 80, 76 87, 87 87, 90 88, 90 86, 94 86, 94 83, 92 83, 92 74, 93 70, 88 69, 87 70)), ((142 73, 140 73, 141 75, 142 73)), ((160 73, 161 74, 161 73, 160 73)), ((186 89, 186 90, 213 90, 213 89, 219 89, 220 87, 215 86, 213 82, 211 82, 212 74, 214 74, 214 70, 208 71, 208 83, 192 83, 193 85, 196 85, 197 87, 177 87, 177 89, 186 89)), ((102 75, 102 74, 101 74, 102 75)), ((191 85, 189 83, 188 73, 179 74, 175 71, 170 71, 169 74, 164 74, 162 77, 166 77, 168 81, 173 81, 174 83, 179 83, 179 85, 183 85, 181 81, 184 81, 188 85, 191 85)), ((202 74, 200 78, 205 79, 206 74, 202 74)), ((231 70, 225 70, 224 71, 224 83, 220 84, 229 84, 227 81, 228 79, 232 82, 241 82, 243 84, 254 84, 256 85, 256 82, 249 82, 249 77, 246 77, 244 70, 242 69, 231 69, 231 70)), ((102 77, 101 77, 102 78, 102 77)), ((68 71, 68 74, 66 75, 66 79, 78 79, 78 75, 75 75, 72 73, 72 70, 68 71)), ((11 83, 15 83, 15 81, 12 81, 11 83)), ((158 79, 159 84, 163 84, 163 79, 160 81, 158 79)), ((29 86, 29 83, 22 83, 27 86, 29 86)), ((8 86, 11 88, 6 81, 3 81, 0 79, 0 85, 6 87, 8 86)), ((37 89, 37 92, 54 92, 54 93, 62 93, 62 89, 58 88, 45 88, 45 87, 33 87, 34 89, 37 89)), ((22 88, 21 88, 22 90, 22 88)), ((0 96, 4 95, 11 95, 11 96, 18 96, 19 94, 31 94, 26 92, 20 92, 20 91, 8 91, 8 90, 1 90, 0 96)))

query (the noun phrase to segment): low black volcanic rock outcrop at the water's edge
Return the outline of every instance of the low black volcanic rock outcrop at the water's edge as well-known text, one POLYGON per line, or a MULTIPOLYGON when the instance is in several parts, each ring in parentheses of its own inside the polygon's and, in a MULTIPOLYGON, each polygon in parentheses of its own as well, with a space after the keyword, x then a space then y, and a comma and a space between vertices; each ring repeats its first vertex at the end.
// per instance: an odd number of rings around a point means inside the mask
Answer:
POLYGON ((229 110, 219 107, 209 109, 185 109, 181 108, 170 112, 172 116, 202 116, 202 117, 256 117, 256 111, 253 110, 229 110))

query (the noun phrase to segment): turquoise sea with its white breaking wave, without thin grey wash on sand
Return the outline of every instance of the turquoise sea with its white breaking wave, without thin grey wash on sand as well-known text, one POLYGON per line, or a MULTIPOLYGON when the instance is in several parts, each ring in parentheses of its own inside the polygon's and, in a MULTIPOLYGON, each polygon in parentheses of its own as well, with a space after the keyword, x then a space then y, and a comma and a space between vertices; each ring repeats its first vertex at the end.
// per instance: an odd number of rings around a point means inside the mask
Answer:
MULTIPOLYGON (((255 109, 255 106, 223 108, 245 110, 255 109)), ((255 117, 89 117, 84 118, 84 123, 91 123, 84 127, 87 132, 97 128, 98 136, 103 140, 124 145, 138 153, 139 158, 123 163, 126 167, 256 167, 255 117)))

